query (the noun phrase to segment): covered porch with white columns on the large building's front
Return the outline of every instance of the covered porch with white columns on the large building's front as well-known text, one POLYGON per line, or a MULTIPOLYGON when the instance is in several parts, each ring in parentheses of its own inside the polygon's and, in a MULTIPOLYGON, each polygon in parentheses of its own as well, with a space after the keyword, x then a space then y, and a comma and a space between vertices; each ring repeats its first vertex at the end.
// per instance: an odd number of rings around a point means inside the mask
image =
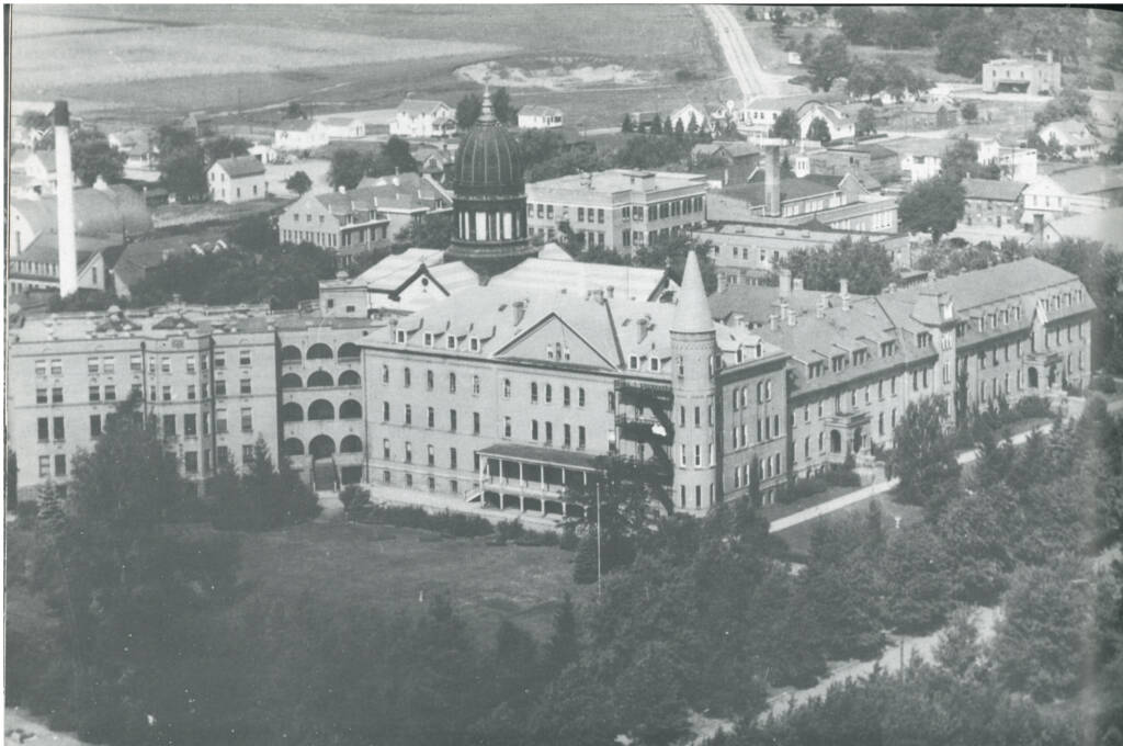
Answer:
POLYGON ((596 457, 575 451, 496 443, 477 452, 476 489, 467 499, 500 510, 579 518, 585 506, 568 499, 570 488, 596 484, 596 457))

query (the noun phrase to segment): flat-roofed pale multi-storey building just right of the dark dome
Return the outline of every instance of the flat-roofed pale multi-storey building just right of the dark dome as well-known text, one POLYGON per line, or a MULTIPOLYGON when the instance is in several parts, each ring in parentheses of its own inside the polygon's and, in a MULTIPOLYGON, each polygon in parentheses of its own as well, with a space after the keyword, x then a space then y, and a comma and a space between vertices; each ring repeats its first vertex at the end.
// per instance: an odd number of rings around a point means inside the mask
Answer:
POLYGON ((705 176, 613 169, 527 184, 527 225, 544 240, 566 224, 573 247, 630 254, 659 236, 705 221, 705 176))

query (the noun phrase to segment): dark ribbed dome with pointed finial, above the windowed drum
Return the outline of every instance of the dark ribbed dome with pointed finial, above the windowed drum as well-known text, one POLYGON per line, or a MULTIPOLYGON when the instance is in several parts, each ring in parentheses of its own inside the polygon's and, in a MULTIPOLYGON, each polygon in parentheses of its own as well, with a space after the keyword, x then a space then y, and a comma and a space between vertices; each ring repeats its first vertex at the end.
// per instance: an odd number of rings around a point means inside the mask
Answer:
POLYGON ((468 129, 456 152, 453 179, 458 194, 521 194, 523 191, 519 144, 495 119, 487 91, 484 91, 480 119, 468 129))

